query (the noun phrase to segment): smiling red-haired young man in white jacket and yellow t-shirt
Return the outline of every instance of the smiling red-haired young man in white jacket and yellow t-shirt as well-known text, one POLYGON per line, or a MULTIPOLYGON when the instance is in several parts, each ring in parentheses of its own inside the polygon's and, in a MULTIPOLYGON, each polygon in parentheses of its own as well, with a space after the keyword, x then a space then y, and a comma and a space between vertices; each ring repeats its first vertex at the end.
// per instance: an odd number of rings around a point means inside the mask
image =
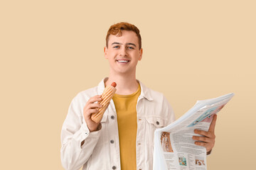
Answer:
MULTIPOLYGON (((98 86, 80 92, 70 104, 61 132, 61 161, 65 169, 152 169, 154 130, 175 120, 169 102, 159 92, 136 79, 142 60, 142 38, 130 23, 117 23, 107 32, 105 58, 109 77, 98 86), (105 86, 117 83, 117 91, 100 123, 91 120, 102 107, 105 86)), ((216 116, 210 130, 196 133, 196 145, 213 148, 216 116)))

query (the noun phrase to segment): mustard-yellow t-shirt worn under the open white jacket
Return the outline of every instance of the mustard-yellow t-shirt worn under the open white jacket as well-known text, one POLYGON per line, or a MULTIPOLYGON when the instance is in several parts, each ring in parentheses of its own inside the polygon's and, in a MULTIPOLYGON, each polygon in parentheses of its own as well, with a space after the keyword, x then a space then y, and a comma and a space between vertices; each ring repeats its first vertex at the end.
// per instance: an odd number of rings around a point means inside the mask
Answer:
POLYGON ((135 170, 137 136, 137 101, 141 87, 134 94, 114 94, 113 101, 117 111, 119 147, 122 170, 135 170))

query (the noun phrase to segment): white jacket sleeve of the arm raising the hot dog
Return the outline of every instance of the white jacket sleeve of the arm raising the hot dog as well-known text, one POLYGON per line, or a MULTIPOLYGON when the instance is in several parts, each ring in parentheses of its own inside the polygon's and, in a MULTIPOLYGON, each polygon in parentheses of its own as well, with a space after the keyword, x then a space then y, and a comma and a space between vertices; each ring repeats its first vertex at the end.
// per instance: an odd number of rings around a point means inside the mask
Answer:
POLYGON ((68 115, 63 123, 60 140, 60 159, 64 169, 80 169, 87 162, 97 144, 101 131, 90 132, 83 118, 83 105, 77 96, 68 109, 68 115), (81 146, 81 142, 85 141, 81 146))

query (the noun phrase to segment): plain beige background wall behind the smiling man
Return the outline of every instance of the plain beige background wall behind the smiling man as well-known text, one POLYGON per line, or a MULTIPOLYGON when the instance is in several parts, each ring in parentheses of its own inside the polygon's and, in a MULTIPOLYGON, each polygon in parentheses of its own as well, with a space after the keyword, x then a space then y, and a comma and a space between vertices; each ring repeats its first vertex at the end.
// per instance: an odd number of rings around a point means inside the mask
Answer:
POLYGON ((108 74, 105 35, 134 23, 137 79, 161 91, 176 118, 230 92, 208 169, 255 162, 255 1, 1 1, 1 169, 63 169, 60 129, 72 98, 108 74))

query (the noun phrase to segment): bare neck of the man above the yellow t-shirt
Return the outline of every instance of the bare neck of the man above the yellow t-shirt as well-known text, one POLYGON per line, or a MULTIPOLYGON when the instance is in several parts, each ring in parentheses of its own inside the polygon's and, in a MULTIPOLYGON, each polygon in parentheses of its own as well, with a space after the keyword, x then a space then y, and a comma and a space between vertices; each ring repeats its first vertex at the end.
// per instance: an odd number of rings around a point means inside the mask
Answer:
POLYGON ((134 92, 137 91, 139 84, 136 80, 135 75, 120 75, 120 74, 115 74, 111 75, 105 82, 105 86, 112 84, 112 82, 116 82, 116 94, 121 94, 121 95, 129 95, 133 94, 134 92))

